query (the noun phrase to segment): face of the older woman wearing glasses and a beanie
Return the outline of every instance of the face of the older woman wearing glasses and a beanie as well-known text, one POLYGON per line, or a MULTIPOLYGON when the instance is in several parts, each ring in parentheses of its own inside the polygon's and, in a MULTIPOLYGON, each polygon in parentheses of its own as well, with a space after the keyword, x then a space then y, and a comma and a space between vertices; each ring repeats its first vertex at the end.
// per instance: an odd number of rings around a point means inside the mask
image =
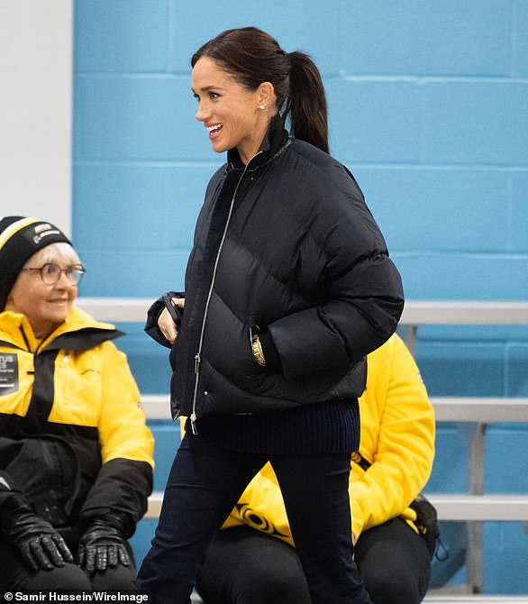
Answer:
MULTIPOLYGON (((24 268, 41 268, 47 262, 54 262, 61 269, 80 264, 68 243, 53 243, 34 253, 24 268)), ((42 339, 66 320, 76 297, 77 284, 64 272, 55 285, 46 285, 37 270, 21 270, 7 297, 5 310, 25 315, 35 336, 42 339)))

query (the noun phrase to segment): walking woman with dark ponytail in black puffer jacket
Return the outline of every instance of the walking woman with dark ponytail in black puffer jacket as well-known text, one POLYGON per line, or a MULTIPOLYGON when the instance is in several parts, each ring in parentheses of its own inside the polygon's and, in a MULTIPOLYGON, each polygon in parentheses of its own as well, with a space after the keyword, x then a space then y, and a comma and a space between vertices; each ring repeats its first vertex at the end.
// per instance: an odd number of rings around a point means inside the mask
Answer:
POLYGON ((181 325, 162 301, 150 310, 147 331, 172 345, 173 416, 189 420, 139 587, 188 602, 208 540, 270 461, 313 601, 369 602, 352 560, 350 453, 365 356, 396 330, 401 280, 328 154, 313 61, 244 28, 191 62, 196 119, 227 163, 206 191, 186 292, 165 297, 185 306, 181 325))

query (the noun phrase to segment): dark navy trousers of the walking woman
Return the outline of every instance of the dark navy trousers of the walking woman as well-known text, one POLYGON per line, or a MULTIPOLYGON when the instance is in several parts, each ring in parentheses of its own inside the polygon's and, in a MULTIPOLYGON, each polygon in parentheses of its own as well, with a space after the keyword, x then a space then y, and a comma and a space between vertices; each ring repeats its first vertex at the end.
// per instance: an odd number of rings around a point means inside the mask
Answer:
POLYGON ((188 604, 207 545, 266 462, 277 475, 313 604, 371 604, 353 562, 350 453, 236 453, 187 434, 170 471, 137 587, 156 604, 188 604))

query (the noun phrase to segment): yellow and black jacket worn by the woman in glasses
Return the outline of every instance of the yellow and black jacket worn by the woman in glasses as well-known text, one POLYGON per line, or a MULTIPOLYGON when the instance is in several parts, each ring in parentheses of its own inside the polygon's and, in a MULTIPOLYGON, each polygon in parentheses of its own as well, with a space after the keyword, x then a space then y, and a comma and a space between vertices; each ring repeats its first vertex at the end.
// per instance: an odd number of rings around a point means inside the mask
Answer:
POLYGON ((55 506, 56 526, 110 511, 132 530, 147 506, 154 440, 119 335, 73 307, 39 341, 0 313, 0 477, 42 515, 55 506))

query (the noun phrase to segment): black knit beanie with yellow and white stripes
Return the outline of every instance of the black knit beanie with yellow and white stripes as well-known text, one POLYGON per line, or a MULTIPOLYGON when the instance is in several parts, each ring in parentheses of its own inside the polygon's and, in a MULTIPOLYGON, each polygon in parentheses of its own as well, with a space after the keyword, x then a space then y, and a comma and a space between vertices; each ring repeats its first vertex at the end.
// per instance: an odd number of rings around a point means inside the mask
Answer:
POLYGON ((71 245, 53 224, 23 216, 0 217, 0 312, 23 265, 51 243, 71 245))

